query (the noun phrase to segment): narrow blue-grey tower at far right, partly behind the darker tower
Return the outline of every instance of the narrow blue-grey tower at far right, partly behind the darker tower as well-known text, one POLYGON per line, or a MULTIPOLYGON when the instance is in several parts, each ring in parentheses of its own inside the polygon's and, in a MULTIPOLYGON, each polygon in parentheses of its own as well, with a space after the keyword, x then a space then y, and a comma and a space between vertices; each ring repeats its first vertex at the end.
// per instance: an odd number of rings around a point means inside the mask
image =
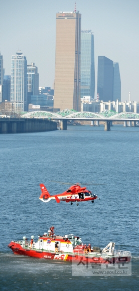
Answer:
POLYGON ((119 64, 113 63, 113 101, 121 100, 121 82, 119 64))

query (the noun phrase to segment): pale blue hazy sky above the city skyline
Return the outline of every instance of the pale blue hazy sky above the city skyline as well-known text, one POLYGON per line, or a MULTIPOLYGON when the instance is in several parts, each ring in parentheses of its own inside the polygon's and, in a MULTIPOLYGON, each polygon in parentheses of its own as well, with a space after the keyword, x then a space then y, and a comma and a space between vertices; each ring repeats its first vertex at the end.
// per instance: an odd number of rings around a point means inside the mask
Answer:
MULTIPOLYGON (((11 56, 20 49, 28 64, 35 62, 40 86, 53 86, 55 76, 56 13, 73 11, 74 1, 0 0, 0 51, 6 74, 11 74, 11 56)), ((82 30, 94 32, 95 79, 97 57, 119 62, 121 101, 139 101, 139 1, 77 0, 82 30)), ((97 93, 97 92, 96 92, 97 93)), ((96 97, 95 93, 95 97, 96 97)))

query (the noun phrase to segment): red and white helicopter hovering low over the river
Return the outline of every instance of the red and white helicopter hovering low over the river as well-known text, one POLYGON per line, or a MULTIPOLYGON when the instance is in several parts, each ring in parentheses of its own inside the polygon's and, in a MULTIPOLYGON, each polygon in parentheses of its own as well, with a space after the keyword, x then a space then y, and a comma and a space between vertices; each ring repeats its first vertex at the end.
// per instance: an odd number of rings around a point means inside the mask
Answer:
POLYGON ((72 205, 73 202, 76 202, 76 205, 78 206, 78 202, 91 200, 93 203, 94 200, 98 198, 97 195, 92 194, 92 192, 87 190, 86 187, 81 187, 79 183, 72 185, 68 190, 57 195, 50 195, 44 184, 40 184, 40 187, 42 193, 39 199, 43 202, 49 202, 50 200, 55 199, 57 203, 60 203, 60 201, 66 201, 71 202, 70 204, 72 205))

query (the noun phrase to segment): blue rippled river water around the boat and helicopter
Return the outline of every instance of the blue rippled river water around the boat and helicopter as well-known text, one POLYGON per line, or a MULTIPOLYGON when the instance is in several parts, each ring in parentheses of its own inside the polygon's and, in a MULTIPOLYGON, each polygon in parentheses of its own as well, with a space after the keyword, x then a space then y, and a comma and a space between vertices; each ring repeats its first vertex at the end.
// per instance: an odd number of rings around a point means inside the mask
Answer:
POLYGON ((0 289, 138 290, 139 127, 68 126, 0 137, 0 289), (42 203, 40 183, 50 194, 69 187, 52 180, 92 183, 88 189, 100 200, 42 203), (51 225, 58 235, 73 233, 100 247, 114 241, 131 251, 132 276, 72 276, 70 263, 16 256, 7 247, 24 235, 37 240, 51 225))

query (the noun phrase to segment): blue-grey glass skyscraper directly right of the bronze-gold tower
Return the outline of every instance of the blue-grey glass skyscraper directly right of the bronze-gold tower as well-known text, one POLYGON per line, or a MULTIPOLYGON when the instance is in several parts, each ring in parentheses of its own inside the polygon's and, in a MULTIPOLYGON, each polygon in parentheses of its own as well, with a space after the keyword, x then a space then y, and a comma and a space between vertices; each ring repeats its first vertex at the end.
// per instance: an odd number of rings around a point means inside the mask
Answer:
POLYGON ((81 98, 90 96, 94 99, 94 92, 94 36, 91 30, 85 30, 81 31, 81 98))

